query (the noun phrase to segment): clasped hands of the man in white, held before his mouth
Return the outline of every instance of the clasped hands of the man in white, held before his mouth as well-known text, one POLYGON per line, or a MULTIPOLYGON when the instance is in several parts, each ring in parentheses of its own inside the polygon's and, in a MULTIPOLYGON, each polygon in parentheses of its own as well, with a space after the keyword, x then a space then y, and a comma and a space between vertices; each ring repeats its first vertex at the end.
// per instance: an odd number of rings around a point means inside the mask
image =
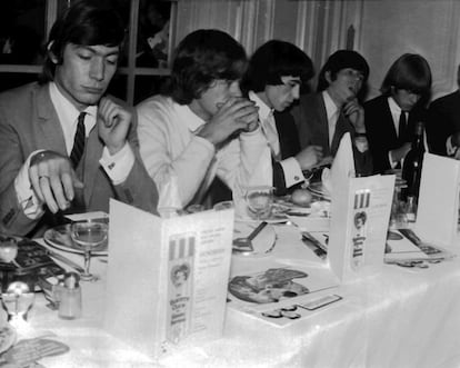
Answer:
POLYGON ((197 136, 217 146, 237 130, 252 131, 257 128, 259 110, 246 98, 233 97, 223 103, 197 136))

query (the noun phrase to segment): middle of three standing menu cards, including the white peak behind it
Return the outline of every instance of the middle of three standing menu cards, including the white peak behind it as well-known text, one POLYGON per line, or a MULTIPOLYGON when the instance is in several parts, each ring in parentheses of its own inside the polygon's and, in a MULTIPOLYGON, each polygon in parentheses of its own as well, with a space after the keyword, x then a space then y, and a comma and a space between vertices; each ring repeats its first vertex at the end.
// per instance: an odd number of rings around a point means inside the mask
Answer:
POLYGON ((383 265, 396 178, 353 178, 352 160, 350 139, 344 136, 331 168, 328 245, 329 265, 342 282, 374 273, 383 265))

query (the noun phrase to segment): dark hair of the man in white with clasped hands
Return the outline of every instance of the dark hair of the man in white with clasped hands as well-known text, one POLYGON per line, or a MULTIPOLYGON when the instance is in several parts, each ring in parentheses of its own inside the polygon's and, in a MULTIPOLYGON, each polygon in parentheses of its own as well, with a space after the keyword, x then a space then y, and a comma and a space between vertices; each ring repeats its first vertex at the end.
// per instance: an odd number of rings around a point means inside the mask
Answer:
POLYGON ((188 105, 217 79, 240 79, 246 68, 246 51, 233 38, 214 29, 197 30, 176 49, 170 95, 176 102, 188 105))

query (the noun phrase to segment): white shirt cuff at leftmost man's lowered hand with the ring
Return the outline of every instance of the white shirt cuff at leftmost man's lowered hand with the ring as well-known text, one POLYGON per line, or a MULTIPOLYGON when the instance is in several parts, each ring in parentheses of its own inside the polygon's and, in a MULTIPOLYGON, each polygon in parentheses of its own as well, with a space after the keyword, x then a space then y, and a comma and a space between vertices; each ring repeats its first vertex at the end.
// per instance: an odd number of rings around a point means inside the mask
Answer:
POLYGON ((24 211, 24 215, 31 220, 38 219, 44 212, 43 205, 36 196, 29 179, 30 159, 41 151, 42 150, 33 151, 29 155, 14 179, 14 190, 18 202, 24 211))

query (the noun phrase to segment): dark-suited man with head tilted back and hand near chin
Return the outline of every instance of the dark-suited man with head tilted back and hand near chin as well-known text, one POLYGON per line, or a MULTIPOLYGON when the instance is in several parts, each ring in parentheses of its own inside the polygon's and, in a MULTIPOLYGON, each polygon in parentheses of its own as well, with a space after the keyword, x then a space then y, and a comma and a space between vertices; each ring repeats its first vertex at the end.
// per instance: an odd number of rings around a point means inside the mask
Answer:
POLYGON ((292 109, 302 148, 322 147, 324 156, 334 157, 344 133, 350 132, 357 175, 371 172, 366 138, 364 113, 358 95, 369 76, 369 66, 356 51, 331 54, 319 74, 318 92, 300 97, 292 109))

